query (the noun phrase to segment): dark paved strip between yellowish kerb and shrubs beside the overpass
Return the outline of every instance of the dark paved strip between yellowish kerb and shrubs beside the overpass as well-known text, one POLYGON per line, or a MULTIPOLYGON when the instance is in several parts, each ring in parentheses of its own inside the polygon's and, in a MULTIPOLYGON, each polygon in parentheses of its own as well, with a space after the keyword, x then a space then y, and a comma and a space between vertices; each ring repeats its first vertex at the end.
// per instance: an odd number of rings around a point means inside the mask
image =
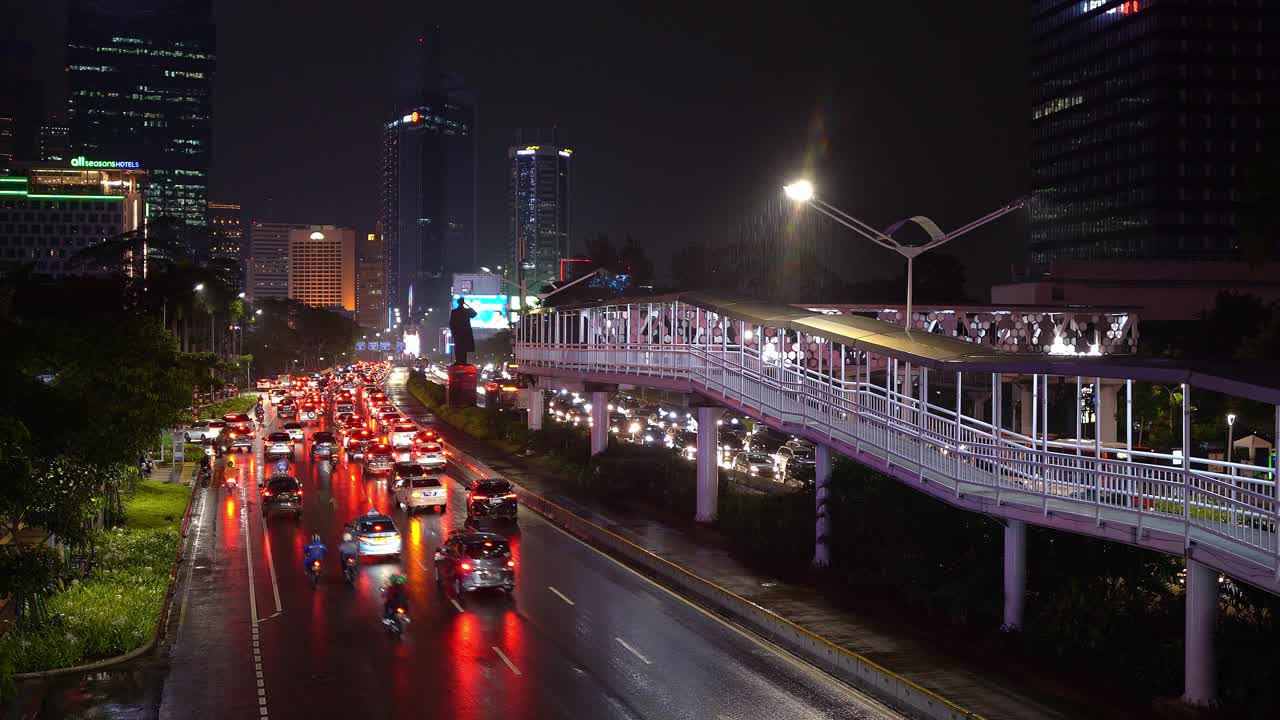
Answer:
MULTIPOLYGON (((630 510, 602 509, 591 500, 564 495, 549 473, 520 457, 460 432, 449 433, 449 439, 463 452, 531 492, 988 720, 1149 715, 1149 708, 1115 706, 1087 688, 1061 687, 1044 679, 1036 682, 1037 687, 1032 689, 1024 687, 1032 682, 1018 683, 966 666, 972 662, 932 647, 924 638, 890 633, 860 621, 856 615, 826 601, 815 587, 787 584, 746 568, 717 547, 714 541, 718 536, 712 529, 681 529, 630 510)), ((992 592, 998 592, 998 588, 992 592)))

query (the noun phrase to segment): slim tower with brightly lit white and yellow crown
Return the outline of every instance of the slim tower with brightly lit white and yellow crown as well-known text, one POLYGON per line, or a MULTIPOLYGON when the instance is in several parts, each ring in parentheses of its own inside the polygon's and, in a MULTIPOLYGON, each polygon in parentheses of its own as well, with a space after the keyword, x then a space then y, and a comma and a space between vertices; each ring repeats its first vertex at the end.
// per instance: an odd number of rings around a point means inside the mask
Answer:
POLYGON ((525 287, 536 293, 568 258, 572 150, 539 142, 509 147, 507 158, 511 263, 524 268, 525 287))

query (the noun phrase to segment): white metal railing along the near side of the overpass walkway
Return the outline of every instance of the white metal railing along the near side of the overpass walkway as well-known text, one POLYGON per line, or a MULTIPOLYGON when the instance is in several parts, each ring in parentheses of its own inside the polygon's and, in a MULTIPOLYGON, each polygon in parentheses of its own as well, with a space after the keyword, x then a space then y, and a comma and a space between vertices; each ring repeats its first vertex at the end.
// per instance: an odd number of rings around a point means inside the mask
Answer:
MULTIPOLYGON (((1172 521, 1185 537, 1197 528, 1252 550, 1251 560, 1280 573, 1280 502, 1266 468, 1132 450, 1110 457, 1079 441, 1061 442, 998 429, 859 379, 837 378, 742 352, 739 345, 687 342, 529 342, 517 340, 525 365, 579 373, 667 378, 733 400, 756 414, 837 438, 860 451, 941 483, 956 495, 989 492, 1001 498, 1092 514, 1101 523, 1140 529, 1172 521), (923 407, 922 407, 923 405, 923 407), (1210 470, 1216 466, 1220 470, 1210 470), (1226 471, 1222 471, 1226 470, 1226 471), (1262 560, 1258 560, 1261 553, 1262 560)), ((1239 555, 1240 552, 1238 552, 1239 555)), ((1249 553, 1244 553, 1249 555, 1249 553)))

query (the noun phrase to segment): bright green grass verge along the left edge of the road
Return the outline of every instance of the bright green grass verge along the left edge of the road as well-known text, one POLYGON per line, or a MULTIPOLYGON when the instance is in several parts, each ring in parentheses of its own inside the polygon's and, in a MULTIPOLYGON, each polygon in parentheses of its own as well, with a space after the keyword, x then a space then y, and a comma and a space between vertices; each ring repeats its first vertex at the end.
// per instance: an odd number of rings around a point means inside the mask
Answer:
POLYGON ((141 480, 125 527, 95 536, 91 571, 49 598, 50 620, 0 638, 13 673, 69 667, 122 655, 156 632, 191 488, 141 480))

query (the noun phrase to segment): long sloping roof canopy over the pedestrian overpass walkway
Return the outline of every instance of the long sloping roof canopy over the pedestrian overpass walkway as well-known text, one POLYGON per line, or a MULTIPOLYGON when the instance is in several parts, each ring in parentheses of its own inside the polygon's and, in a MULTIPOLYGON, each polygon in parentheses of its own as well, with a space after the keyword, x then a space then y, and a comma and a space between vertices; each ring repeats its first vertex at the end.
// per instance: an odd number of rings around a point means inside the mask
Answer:
POLYGON ((705 292, 678 292, 659 296, 620 297, 604 302, 558 305, 532 313, 576 310, 646 302, 680 301, 703 310, 745 320, 756 325, 786 328, 820 336, 832 342, 887 355, 936 370, 964 373, 1046 373, 1085 378, 1133 379, 1162 384, 1189 383, 1193 387, 1280 405, 1280 373, 1265 365, 1242 363, 1197 363, 1178 357, 1134 355, 1070 356, 1004 352, 963 340, 900 325, 861 315, 824 315, 791 305, 759 302, 705 292))

